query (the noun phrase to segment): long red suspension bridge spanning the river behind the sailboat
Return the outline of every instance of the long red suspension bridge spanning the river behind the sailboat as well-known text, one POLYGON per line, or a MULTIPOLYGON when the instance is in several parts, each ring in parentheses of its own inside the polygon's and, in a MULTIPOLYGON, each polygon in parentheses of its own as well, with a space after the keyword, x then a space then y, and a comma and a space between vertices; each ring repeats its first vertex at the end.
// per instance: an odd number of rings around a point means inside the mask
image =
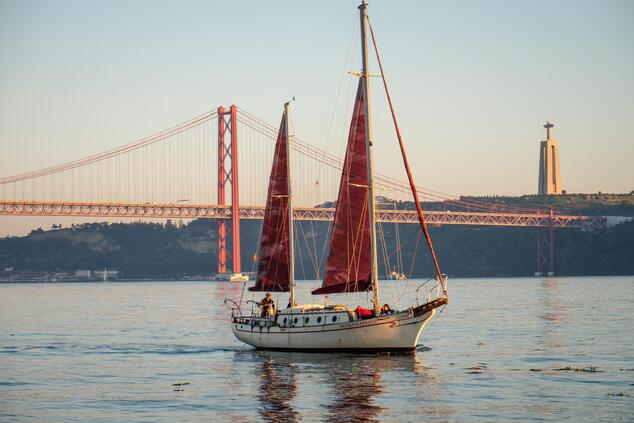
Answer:
MULTIPOLYGON (((239 222, 263 217, 276 138, 277 128, 257 116, 235 105, 219 107, 118 148, 2 177, 0 215, 216 219, 218 272, 229 266, 240 272, 239 222)), ((336 198, 343 161, 296 136, 291 148, 295 219, 332 220, 329 202, 336 198)), ((379 207, 377 221, 418 222, 415 211, 392 206, 409 200, 406 182, 387 175, 377 175, 376 182, 392 199, 379 207)), ((427 188, 419 194, 448 208, 426 213, 432 225, 537 228, 539 274, 554 271, 555 229, 607 226, 605 217, 492 205, 427 188)))

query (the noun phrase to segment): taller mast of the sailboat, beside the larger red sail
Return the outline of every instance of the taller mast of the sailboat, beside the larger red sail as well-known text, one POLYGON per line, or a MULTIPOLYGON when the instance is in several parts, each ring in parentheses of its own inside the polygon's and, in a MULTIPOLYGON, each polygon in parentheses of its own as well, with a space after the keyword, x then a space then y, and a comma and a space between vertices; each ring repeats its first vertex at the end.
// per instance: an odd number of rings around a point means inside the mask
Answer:
POLYGON ((378 315, 381 307, 379 305, 379 269, 376 258, 376 226, 374 222, 374 209, 376 207, 374 199, 374 180, 372 168, 372 128, 370 126, 370 84, 368 79, 368 40, 366 34, 366 7, 365 0, 359 6, 359 18, 361 19, 361 59, 362 69, 361 78, 363 78, 363 98, 365 106, 365 142, 368 159, 368 211, 370 217, 370 254, 372 264, 370 275, 372 278, 372 303, 374 311, 378 315))

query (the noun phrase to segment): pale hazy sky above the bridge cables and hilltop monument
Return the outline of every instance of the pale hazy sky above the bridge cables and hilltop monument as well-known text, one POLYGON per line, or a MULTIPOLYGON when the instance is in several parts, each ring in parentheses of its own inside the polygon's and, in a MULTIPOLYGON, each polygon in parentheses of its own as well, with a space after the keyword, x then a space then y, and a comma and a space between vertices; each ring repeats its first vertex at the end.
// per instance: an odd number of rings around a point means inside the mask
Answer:
MULTIPOLYGON (((221 104, 277 124, 291 96, 295 132, 323 148, 357 67, 357 3, 0 0, 0 176, 221 104)), ((535 193, 548 119, 564 189, 634 189, 634 2, 375 0, 369 13, 421 185, 535 193)))

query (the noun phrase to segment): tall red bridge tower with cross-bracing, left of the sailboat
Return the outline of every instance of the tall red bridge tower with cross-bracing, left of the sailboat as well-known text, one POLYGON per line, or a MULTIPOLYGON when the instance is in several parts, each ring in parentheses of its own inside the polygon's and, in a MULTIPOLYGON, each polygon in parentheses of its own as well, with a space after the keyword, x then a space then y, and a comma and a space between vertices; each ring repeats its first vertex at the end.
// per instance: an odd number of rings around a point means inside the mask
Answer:
POLYGON ((229 111, 218 107, 218 205, 226 205, 225 188, 231 184, 231 231, 225 220, 218 221, 218 273, 227 271, 227 238, 231 236, 232 270, 241 272, 240 266, 240 199, 238 185, 238 128, 237 107, 229 111), (229 132, 229 137, 225 135, 229 132), (227 144, 227 141, 229 143, 227 144), (227 159, 231 159, 230 169, 227 159))

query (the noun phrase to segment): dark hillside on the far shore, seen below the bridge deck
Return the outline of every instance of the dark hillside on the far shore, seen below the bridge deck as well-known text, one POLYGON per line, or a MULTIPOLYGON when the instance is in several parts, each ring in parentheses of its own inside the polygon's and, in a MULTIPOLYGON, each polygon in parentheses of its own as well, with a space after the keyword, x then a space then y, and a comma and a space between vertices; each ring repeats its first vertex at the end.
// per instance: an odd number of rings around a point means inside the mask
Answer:
MULTIPOLYGON (((216 223, 195 220, 187 225, 158 223, 93 223, 72 228, 34 230, 25 237, 0 239, 0 269, 66 271, 117 269, 128 278, 179 278, 210 274, 217 267, 216 223)), ((395 265, 393 224, 379 228, 381 273, 395 265), (389 265, 386 263, 389 262, 389 265)), ((450 276, 528 276, 535 271, 535 229, 444 226, 431 228, 443 271, 450 276)), ((243 270, 252 270, 260 232, 259 221, 243 221, 243 270)), ((314 278, 323 270, 329 224, 297 223, 298 278, 314 278)), ((400 226, 403 271, 433 274, 426 248, 419 246, 415 225, 400 226)), ((555 270, 559 275, 634 274, 634 222, 603 232, 555 231, 555 270)))

